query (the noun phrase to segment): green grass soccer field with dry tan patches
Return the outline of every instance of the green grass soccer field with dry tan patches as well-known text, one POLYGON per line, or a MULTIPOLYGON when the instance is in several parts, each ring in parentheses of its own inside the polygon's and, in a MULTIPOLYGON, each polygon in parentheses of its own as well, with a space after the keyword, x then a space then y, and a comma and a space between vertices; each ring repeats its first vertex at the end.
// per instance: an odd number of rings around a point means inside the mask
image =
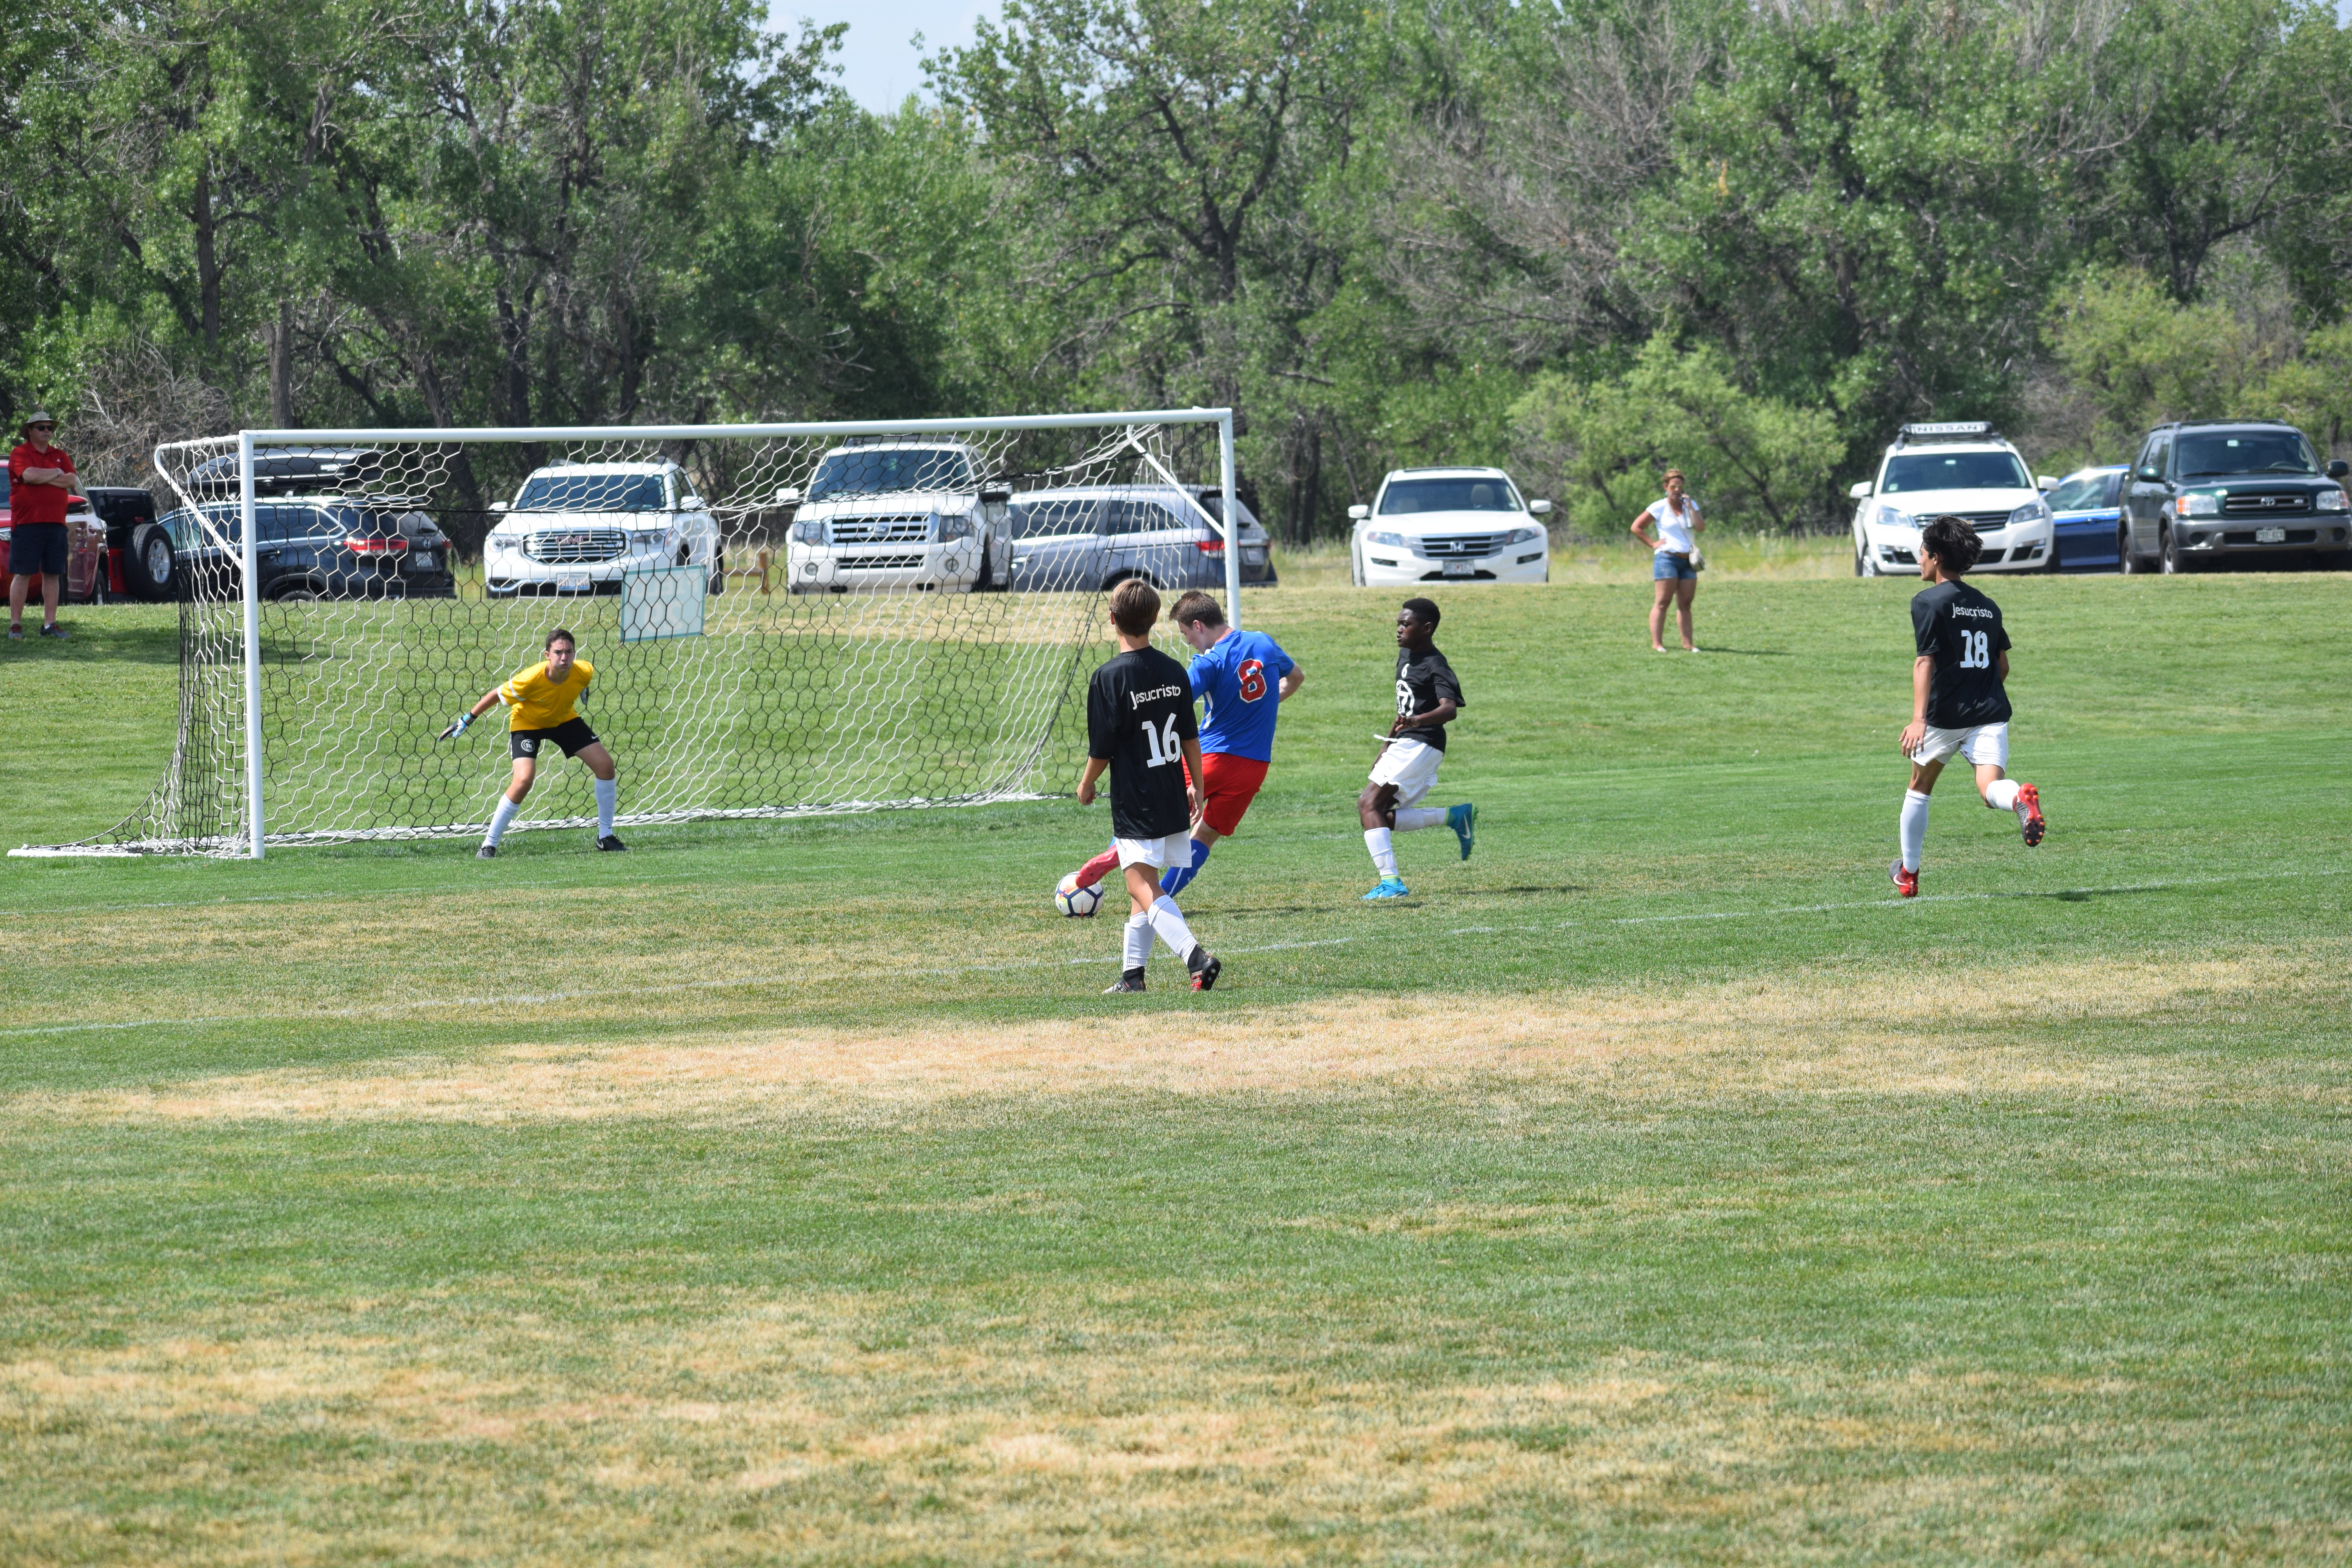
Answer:
MULTIPOLYGON (((1209 997, 1070 802, 0 863, 0 1561, 2352 1561, 2352 578, 1992 581, 1915 903, 1905 585, 1449 592, 1402 907, 1296 583, 1209 997)), ((7 844, 169 748, 78 630, 7 844)))

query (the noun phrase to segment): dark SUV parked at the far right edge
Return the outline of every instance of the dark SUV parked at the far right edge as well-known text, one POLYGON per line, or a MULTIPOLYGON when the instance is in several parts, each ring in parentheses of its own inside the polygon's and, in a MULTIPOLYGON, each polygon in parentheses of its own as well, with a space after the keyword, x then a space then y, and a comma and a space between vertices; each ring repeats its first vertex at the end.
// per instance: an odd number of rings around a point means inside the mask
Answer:
POLYGON ((2223 559, 2352 567, 2345 463, 2324 470, 2303 430, 2267 418, 2157 425, 2131 463, 2124 571, 2204 571, 2223 559))

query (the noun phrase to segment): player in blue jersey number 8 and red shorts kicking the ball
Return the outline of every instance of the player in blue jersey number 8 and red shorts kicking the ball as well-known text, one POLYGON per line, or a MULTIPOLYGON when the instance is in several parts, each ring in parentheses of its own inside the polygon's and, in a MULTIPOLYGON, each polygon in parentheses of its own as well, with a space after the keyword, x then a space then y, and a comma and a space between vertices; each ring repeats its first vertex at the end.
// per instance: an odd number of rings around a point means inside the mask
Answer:
MULTIPOLYGON (((1275 710, 1298 691, 1305 672, 1265 632, 1228 625, 1225 609, 1197 588, 1176 599, 1169 618, 1176 635, 1192 644, 1192 696, 1204 705, 1202 811, 1192 823, 1192 863, 1171 865, 1160 877, 1162 893, 1181 893, 1209 863, 1216 842, 1242 827, 1242 813, 1265 783, 1265 764, 1275 759, 1275 710)), ((1117 863, 1117 849, 1105 849, 1070 872, 1063 891, 1094 886, 1117 863)))

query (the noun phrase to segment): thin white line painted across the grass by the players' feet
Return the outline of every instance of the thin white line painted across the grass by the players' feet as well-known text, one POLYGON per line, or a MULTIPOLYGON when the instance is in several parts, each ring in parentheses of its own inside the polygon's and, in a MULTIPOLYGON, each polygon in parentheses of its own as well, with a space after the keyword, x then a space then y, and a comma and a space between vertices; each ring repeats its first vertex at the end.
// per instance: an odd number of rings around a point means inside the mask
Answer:
MULTIPOLYGON (((1924 893, 1919 898, 1853 898, 1842 903, 1797 903, 1776 905, 1769 910, 1708 910, 1696 914, 1616 914, 1606 919, 1562 919, 1548 924, 1529 926, 1454 926, 1442 936, 1496 936, 1496 933, 1541 933, 1541 931, 1581 931, 1581 929, 1604 929, 1604 926, 1651 926, 1665 922, 1689 922, 1689 919, 1780 919, 1783 914, 1832 914, 1842 910, 1915 910, 1931 903, 1994 903, 2013 898, 2065 898, 2077 893, 2082 898, 2100 898, 2112 893, 2161 893, 2169 889, 2187 886, 2218 886, 2232 882, 2281 882, 2281 879, 2312 879, 2312 877, 2336 877, 2340 870, 2310 870, 2310 872, 2244 872, 2237 877, 2178 877, 2171 882, 2129 882, 2117 886, 2096 889, 2042 889, 2042 891, 2004 891, 2004 893, 1924 893)), ((1261 943, 1256 947, 1223 947, 1223 954, 1240 952, 1294 952, 1301 947, 1348 947, 1352 943, 1388 940, 1388 933, 1362 933, 1362 936, 1327 936, 1315 940, 1294 943, 1261 943)), ((976 976, 976 973, 1000 973, 1007 969, 1073 969, 1087 964, 1112 964, 1117 954, 1084 954, 1075 959, 1002 959, 995 964, 946 964, 946 966, 922 966, 922 969, 891 969, 875 971, 875 978, 913 978, 913 976, 976 976)), ((310 1009, 299 1013, 195 1013, 188 1018, 129 1018, 122 1023, 49 1023, 49 1025, 26 1025, 14 1030, 0 1030, 0 1039, 21 1039, 33 1034, 101 1034, 115 1030, 191 1030, 219 1023, 313 1023, 332 1018, 397 1018, 402 1013, 426 1013, 440 1009, 494 1009, 494 1006, 548 1006, 555 1001, 597 1001, 604 997, 659 997, 677 992, 717 992, 717 990, 764 990, 771 985, 802 985, 807 976, 734 976, 724 980, 670 980, 666 985, 597 985, 579 990, 557 992, 508 992, 492 997, 419 997, 414 1001, 388 1001, 376 1006, 346 1006, 346 1009, 310 1009)))

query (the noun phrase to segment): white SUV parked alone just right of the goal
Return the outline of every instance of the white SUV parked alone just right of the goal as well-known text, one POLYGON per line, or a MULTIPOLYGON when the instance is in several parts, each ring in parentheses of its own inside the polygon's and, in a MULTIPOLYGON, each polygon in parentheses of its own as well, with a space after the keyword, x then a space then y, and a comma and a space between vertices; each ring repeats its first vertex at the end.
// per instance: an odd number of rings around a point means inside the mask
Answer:
POLYGON ((1550 501, 1522 501, 1501 468, 1399 468, 1350 505, 1348 576, 1402 583, 1550 583, 1550 501))

